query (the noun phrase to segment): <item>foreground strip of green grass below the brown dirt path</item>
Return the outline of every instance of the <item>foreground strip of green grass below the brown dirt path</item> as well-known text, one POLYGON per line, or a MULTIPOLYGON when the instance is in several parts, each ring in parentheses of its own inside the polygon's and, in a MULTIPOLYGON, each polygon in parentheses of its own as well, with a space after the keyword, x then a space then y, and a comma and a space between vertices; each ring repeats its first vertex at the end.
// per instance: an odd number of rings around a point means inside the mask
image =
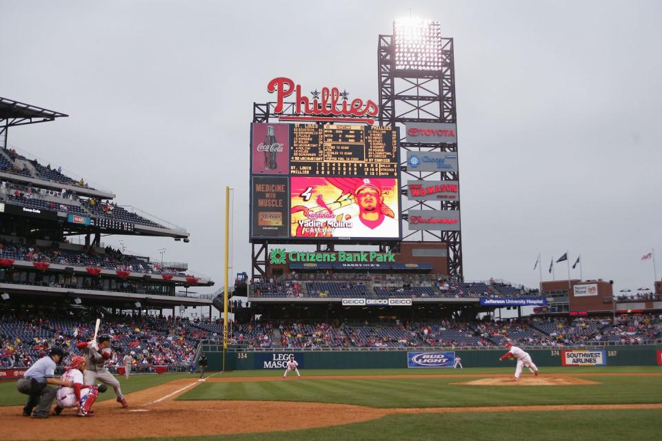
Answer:
MULTIPOLYGON (((659 416, 659 410, 420 413, 323 429, 159 438, 159 441, 656 440, 662 431, 659 416)), ((283 418, 287 418, 286 413, 283 418)))

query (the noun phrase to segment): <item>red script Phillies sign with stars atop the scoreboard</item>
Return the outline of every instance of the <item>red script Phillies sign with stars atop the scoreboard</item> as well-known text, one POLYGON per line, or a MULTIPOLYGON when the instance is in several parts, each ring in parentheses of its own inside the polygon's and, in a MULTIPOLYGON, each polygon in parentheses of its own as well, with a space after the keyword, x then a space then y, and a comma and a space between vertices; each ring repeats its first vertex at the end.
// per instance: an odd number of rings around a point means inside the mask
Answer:
POLYGON ((274 113, 282 113, 285 107, 285 98, 294 94, 294 113, 297 115, 279 116, 280 121, 345 121, 352 123, 374 123, 374 117, 379 114, 379 107, 372 100, 363 101, 355 98, 347 99, 347 94, 341 94, 338 88, 322 88, 308 96, 301 94, 301 85, 289 78, 279 76, 269 81, 267 92, 276 94, 274 113), (318 98, 319 96, 319 98, 318 98))

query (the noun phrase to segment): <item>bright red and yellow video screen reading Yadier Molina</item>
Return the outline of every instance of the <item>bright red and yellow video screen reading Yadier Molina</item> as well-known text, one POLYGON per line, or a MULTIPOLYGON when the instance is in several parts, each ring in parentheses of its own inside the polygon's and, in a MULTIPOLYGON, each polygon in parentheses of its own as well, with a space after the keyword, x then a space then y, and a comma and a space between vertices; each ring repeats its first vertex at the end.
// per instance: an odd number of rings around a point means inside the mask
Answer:
POLYGON ((400 238, 395 178, 292 177, 291 236, 400 238))

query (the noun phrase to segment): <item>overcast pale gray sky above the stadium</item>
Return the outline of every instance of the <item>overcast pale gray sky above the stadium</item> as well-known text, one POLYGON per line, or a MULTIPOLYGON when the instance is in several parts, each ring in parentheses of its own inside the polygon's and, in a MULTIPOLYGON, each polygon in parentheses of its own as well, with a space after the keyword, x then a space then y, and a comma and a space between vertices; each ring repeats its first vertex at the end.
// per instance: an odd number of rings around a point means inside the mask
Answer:
POLYGON ((252 103, 275 76, 378 101, 377 36, 410 8, 454 38, 465 278, 537 286, 538 253, 545 280, 568 249, 584 278, 652 288, 659 1, 0 0, 0 96, 70 115, 9 143, 188 229, 188 244, 124 239, 220 287, 225 185, 250 272, 252 103))

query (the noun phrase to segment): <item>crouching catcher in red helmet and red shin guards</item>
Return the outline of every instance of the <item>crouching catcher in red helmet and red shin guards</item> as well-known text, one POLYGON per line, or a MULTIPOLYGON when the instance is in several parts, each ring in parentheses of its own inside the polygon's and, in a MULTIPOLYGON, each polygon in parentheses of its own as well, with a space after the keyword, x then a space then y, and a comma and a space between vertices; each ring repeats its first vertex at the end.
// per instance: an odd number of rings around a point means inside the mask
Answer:
POLYGON ((108 390, 106 384, 97 386, 86 386, 83 384, 83 369, 85 369, 85 357, 74 356, 71 359, 67 371, 63 374, 63 380, 70 380, 72 387, 60 386, 57 389, 55 400, 57 402, 53 415, 59 415, 68 407, 77 410, 78 416, 92 416, 92 404, 97 400, 99 392, 108 390))

